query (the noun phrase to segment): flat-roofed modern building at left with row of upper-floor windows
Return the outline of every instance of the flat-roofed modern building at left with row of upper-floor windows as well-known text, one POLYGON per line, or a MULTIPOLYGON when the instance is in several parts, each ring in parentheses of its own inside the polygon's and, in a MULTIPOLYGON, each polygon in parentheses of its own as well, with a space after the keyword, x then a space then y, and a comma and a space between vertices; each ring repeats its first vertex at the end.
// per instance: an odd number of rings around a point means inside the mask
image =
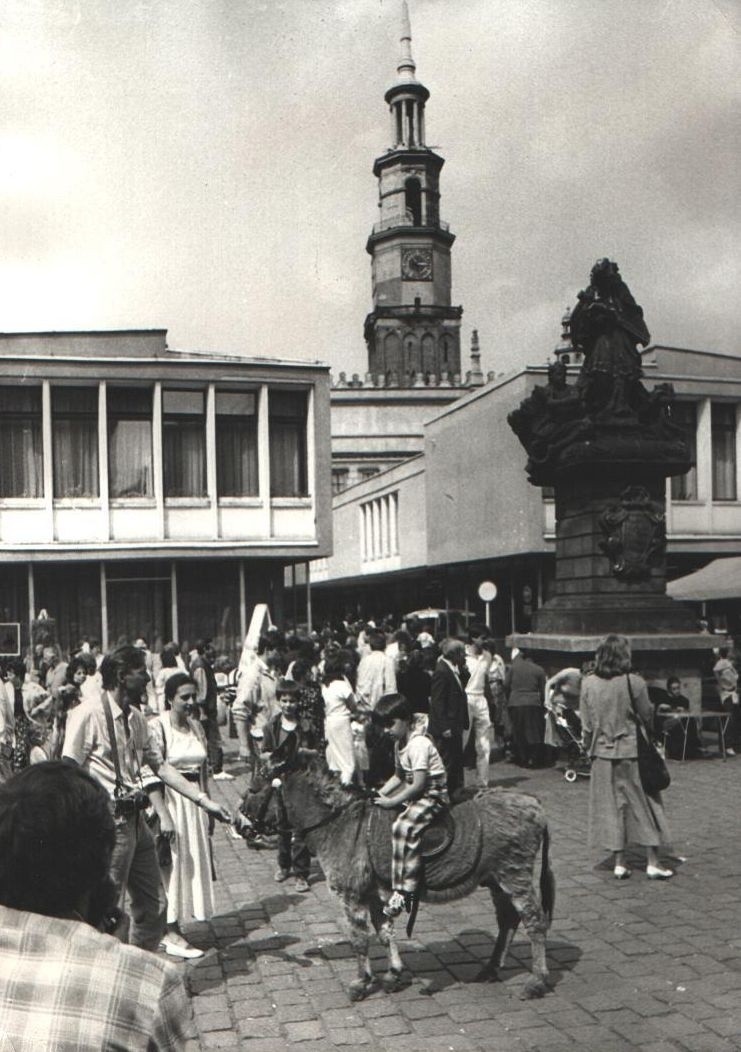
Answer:
POLYGON ((0 335, 0 621, 234 650, 332 546, 329 376, 166 331, 0 335))

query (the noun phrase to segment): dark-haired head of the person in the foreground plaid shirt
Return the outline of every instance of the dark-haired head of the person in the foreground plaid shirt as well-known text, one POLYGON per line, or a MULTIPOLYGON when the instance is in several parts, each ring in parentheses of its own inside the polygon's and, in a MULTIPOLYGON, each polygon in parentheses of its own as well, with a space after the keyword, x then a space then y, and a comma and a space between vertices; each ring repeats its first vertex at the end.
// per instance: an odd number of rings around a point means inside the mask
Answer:
POLYGON ((98 925, 114 905, 116 832, 107 793, 62 762, 26 767, 0 785, 0 904, 98 925))

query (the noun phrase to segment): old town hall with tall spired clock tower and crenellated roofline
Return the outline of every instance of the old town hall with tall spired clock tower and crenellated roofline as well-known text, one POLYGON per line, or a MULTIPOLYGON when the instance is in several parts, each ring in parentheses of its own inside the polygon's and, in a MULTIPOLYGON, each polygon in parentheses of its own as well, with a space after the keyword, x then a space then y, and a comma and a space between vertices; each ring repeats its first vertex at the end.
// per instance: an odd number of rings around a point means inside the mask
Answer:
POLYGON ((403 4, 397 78, 385 93, 389 146, 376 158, 378 221, 366 242, 373 309, 367 371, 340 372, 332 389, 334 492, 422 451, 423 421, 484 383, 478 337, 461 369, 461 317, 453 303, 455 235, 440 218, 445 163, 426 145, 427 88, 417 79, 403 4))

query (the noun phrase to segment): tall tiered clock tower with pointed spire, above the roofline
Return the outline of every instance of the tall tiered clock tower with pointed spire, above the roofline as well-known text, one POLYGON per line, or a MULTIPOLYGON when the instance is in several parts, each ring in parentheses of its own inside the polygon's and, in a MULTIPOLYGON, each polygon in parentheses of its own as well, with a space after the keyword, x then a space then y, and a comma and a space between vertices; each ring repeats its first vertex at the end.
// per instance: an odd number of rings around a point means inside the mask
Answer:
POLYGON ((417 80, 406 0, 397 78, 385 94, 390 143, 374 164, 379 220, 367 240, 373 310, 368 371, 386 386, 460 384, 462 307, 450 305, 455 235, 440 219, 443 159, 425 143, 427 88, 417 80))

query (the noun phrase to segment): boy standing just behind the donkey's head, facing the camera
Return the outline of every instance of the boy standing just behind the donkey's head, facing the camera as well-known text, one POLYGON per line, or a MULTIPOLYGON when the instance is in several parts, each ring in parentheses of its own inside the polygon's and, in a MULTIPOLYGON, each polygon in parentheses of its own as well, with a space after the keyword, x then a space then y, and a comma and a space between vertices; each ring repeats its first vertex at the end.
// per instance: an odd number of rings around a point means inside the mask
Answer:
MULTIPOLYGON (((286 756, 294 756, 300 748, 309 748, 309 739, 303 731, 298 719, 299 685, 293 680, 279 680, 276 688, 276 699, 280 712, 265 724, 262 739, 262 758, 269 760, 280 746, 286 756)), ((278 884, 295 876, 294 891, 308 891, 308 870, 312 856, 300 833, 288 825, 285 813, 282 814, 281 831, 278 836, 278 869, 275 879, 278 884)))

